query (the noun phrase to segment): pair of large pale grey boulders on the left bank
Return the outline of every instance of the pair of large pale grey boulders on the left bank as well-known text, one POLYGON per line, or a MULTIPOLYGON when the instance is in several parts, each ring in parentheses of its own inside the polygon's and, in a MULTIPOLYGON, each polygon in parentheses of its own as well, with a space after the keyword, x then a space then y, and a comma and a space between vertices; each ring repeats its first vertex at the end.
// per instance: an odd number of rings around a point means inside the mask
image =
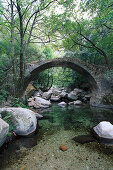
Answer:
POLYGON ((0 147, 7 139, 9 124, 2 118, 4 114, 10 114, 10 121, 13 123, 13 132, 15 135, 28 136, 35 132, 37 128, 37 119, 43 116, 25 108, 0 108, 0 147))

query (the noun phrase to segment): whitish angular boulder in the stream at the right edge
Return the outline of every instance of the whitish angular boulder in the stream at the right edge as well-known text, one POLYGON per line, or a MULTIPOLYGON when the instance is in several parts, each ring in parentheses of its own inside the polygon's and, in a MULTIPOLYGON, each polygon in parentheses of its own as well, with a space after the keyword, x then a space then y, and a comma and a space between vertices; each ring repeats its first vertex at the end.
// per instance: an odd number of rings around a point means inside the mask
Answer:
POLYGON ((113 125, 110 122, 102 121, 93 130, 101 138, 113 139, 113 125))

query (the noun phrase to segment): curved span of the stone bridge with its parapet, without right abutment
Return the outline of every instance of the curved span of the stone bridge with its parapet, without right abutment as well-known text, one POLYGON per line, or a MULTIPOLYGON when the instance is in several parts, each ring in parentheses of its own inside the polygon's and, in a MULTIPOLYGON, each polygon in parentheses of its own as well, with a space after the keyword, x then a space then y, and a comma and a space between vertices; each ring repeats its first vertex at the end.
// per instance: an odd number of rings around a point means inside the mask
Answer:
POLYGON ((95 76, 93 75, 92 70, 90 70, 83 62, 81 63, 81 60, 66 57, 52 60, 35 61, 28 64, 28 76, 25 78, 24 90, 31 81, 36 79, 37 74, 52 67, 67 67, 75 70, 87 79, 93 93, 98 92, 98 83, 95 76))

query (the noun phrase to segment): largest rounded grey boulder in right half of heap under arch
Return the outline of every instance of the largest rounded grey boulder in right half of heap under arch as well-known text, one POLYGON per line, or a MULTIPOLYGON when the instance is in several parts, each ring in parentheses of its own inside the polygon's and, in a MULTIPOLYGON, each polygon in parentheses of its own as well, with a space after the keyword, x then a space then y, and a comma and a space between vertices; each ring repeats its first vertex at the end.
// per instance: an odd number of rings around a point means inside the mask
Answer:
POLYGON ((81 97, 83 90, 81 89, 74 89, 68 94, 68 99, 69 100, 78 100, 81 97))

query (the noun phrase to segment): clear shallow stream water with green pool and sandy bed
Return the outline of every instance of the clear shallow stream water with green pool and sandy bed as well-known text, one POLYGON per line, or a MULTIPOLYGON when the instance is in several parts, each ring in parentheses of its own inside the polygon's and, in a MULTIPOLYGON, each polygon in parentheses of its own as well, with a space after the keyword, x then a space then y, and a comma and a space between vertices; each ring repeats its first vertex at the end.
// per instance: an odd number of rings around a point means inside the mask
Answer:
POLYGON ((0 154, 2 170, 112 170, 113 147, 98 142, 79 144, 75 136, 90 134, 100 121, 113 124, 113 110, 88 105, 61 108, 53 104, 42 112, 39 131, 29 138, 19 138, 0 154), (64 144, 67 151, 59 150, 64 144))

